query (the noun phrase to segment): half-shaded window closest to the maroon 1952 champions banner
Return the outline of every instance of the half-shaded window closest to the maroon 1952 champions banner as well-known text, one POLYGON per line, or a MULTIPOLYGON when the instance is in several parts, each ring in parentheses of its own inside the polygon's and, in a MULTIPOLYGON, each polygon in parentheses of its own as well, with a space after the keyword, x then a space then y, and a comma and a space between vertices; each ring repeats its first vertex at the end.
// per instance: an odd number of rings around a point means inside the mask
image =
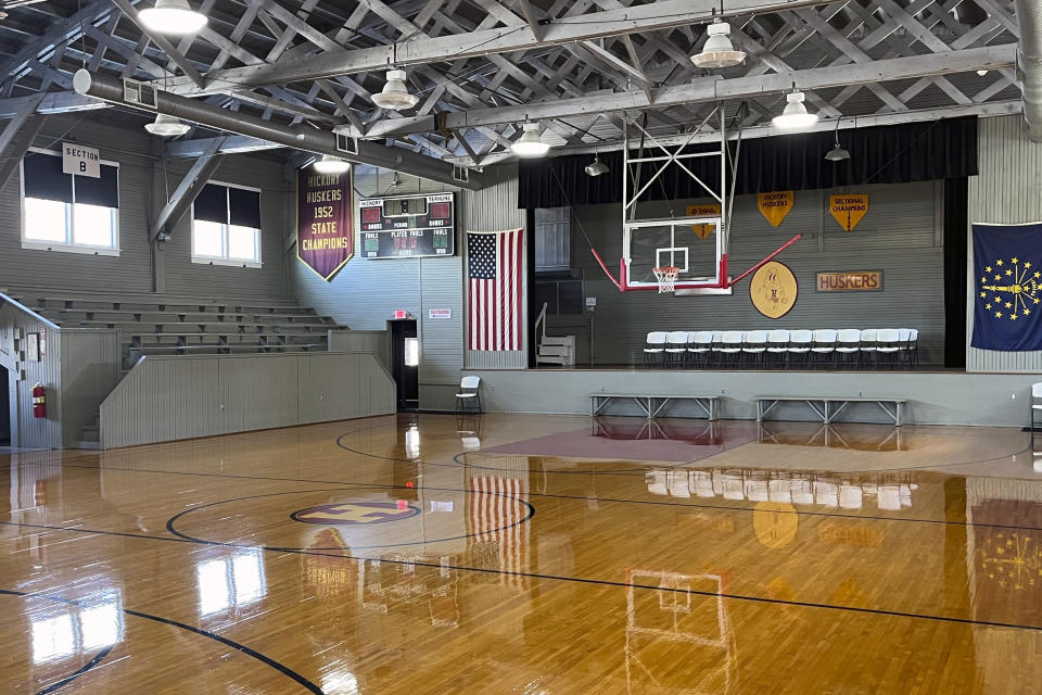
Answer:
POLYGON ((207 184, 192 203, 192 261, 260 267, 260 190, 207 184))

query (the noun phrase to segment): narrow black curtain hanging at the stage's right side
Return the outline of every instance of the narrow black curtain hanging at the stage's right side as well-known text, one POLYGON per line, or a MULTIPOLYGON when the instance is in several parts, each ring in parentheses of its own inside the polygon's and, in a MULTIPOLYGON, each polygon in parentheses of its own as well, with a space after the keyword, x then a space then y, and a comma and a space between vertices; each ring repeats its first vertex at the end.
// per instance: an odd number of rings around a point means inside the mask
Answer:
POLYGON ((944 180, 944 366, 966 368, 967 179, 944 180))

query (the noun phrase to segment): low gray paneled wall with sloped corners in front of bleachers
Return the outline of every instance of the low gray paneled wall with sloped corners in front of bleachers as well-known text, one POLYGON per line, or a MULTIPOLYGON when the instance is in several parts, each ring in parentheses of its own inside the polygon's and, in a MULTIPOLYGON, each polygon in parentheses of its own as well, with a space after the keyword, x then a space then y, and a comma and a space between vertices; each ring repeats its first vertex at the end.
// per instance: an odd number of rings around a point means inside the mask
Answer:
POLYGON ((101 406, 104 448, 394 413, 372 353, 149 357, 101 406))

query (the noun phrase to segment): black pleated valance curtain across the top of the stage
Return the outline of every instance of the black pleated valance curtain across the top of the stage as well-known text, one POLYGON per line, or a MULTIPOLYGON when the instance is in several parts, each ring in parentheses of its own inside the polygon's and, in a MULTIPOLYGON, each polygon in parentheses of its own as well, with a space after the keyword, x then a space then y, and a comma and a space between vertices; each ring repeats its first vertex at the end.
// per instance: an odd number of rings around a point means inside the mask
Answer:
MULTIPOLYGON (((828 162, 833 132, 804 132, 754 138, 740 143, 735 193, 809 190, 865 184, 906 184, 960 178, 977 174, 977 118, 945 118, 932 123, 854 128, 839 131, 850 151, 846 162, 828 162)), ((739 147, 728 143, 732 154, 739 147)), ((712 152, 719 146, 688 148, 712 152)), ((647 143, 646 153, 662 151, 647 143)), ((635 154, 635 153, 634 153, 635 154)), ((518 207, 561 207, 622 202, 622 153, 606 152, 600 160, 609 172, 596 178, 583 170, 592 154, 522 159, 519 164, 518 207)), ((702 181, 719 191, 720 157, 685 160, 702 181)), ((650 167, 641 176, 647 181, 650 167)), ((640 200, 704 198, 706 191, 677 166, 668 167, 640 200)))

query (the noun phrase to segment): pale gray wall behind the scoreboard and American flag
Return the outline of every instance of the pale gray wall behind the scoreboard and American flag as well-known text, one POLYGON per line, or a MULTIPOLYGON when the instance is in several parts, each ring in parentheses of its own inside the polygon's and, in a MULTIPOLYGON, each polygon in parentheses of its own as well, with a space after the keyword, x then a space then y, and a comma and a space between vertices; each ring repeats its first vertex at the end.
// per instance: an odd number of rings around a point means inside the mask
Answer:
MULTIPOLYGON (((371 261, 356 256, 331 282, 326 282, 296 260, 295 250, 290 252, 290 293, 302 304, 317 308, 319 314, 365 331, 386 330, 395 309, 405 309, 416 317, 420 338, 420 407, 424 409, 454 407, 459 372, 465 364, 468 367, 526 365, 524 351, 465 351, 465 232, 506 230, 524 225, 524 213, 517 208, 517 167, 493 167, 486 169, 485 177, 488 186, 472 192, 405 175, 398 175, 399 182, 393 185, 394 179, 386 172, 356 169, 356 199, 455 190, 458 231, 456 255, 450 258, 371 261), (452 318, 432 320, 429 318, 432 308, 452 309, 452 318)), ((357 204, 355 215, 357 229, 357 204)))

